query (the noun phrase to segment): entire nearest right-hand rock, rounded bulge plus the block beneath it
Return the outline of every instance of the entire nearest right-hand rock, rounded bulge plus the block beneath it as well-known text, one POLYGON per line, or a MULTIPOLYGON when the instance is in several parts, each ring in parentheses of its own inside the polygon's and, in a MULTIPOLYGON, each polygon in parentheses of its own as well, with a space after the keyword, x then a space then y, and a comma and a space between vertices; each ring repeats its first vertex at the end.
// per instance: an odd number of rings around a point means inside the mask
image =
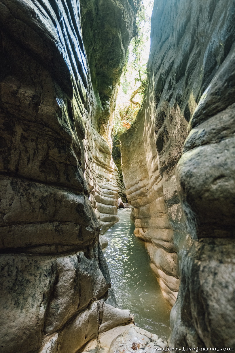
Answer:
POLYGON ((190 342, 191 332, 201 347, 235 347, 234 74, 233 44, 189 122, 177 165, 179 195, 194 239, 182 257, 179 316, 171 337, 177 344, 190 342), (186 305, 191 307, 187 317, 186 305))

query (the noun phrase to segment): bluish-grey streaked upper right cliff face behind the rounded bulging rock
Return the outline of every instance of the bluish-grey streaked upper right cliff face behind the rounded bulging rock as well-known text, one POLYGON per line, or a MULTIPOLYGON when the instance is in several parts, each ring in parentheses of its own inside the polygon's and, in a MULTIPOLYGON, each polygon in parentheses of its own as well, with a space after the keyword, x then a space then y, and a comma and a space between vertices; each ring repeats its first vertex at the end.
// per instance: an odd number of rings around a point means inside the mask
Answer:
POLYGON ((180 0, 174 6, 159 1, 153 12, 149 71, 156 101, 156 147, 170 223, 179 229, 176 241, 183 227, 175 166, 188 121, 233 44, 233 20, 234 1, 180 0))

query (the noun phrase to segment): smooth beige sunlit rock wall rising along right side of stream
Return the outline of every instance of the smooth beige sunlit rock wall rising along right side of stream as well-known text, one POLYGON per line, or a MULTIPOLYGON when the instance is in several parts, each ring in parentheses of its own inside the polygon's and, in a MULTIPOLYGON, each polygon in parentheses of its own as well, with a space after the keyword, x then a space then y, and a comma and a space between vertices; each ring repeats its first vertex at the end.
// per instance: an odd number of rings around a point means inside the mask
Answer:
POLYGON ((180 282, 179 270, 173 229, 163 199, 163 180, 158 170, 150 93, 145 97, 137 119, 121 135, 120 141, 127 200, 134 208, 134 234, 145 241, 151 268, 164 297, 173 306, 180 282))

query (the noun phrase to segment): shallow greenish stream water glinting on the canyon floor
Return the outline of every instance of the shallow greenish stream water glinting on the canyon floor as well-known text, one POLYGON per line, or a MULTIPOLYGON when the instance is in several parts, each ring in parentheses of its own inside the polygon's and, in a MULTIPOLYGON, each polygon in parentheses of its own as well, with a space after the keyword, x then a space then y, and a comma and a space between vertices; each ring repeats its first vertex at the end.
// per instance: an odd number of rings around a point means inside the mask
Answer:
POLYGON ((118 305, 134 314, 138 327, 168 339, 170 307, 163 298, 144 243, 133 235, 130 209, 118 211, 120 221, 105 236, 104 254, 118 305))

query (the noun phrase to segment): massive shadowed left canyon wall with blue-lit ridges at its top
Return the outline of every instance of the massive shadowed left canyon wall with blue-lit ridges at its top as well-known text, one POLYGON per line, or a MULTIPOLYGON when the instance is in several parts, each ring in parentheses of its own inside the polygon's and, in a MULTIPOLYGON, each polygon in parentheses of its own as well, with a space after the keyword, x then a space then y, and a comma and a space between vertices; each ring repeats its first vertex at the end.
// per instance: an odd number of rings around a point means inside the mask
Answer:
POLYGON ((79 2, 3 0, 0 23, 0 350, 75 353, 132 321, 115 307, 84 178, 109 207, 79 2))

